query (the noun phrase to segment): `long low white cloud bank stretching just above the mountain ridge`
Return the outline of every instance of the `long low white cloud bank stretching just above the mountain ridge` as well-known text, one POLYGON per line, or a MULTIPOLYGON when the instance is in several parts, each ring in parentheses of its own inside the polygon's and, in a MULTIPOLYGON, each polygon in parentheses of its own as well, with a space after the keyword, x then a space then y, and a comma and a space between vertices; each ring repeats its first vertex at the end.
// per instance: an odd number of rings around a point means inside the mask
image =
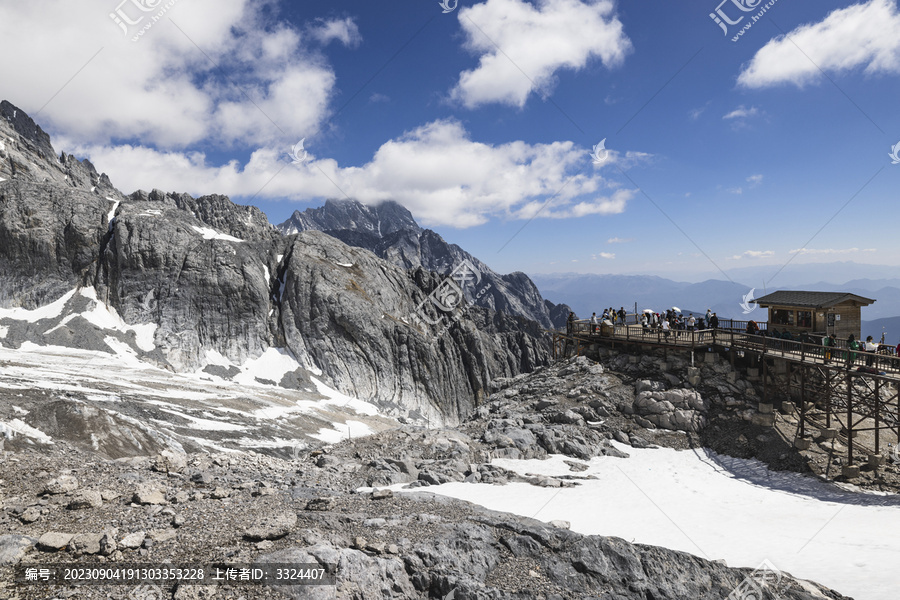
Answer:
POLYGON ((136 146, 83 146, 74 153, 87 155, 127 191, 157 187, 297 201, 344 194, 365 203, 391 199, 430 226, 469 227, 491 217, 618 214, 635 193, 585 174, 591 173, 584 167, 590 158, 573 142, 489 145, 471 140, 457 121, 435 121, 389 140, 360 167, 317 157, 309 143, 310 160, 292 165, 289 150, 265 148, 245 165, 222 166, 209 164, 200 153, 136 146))

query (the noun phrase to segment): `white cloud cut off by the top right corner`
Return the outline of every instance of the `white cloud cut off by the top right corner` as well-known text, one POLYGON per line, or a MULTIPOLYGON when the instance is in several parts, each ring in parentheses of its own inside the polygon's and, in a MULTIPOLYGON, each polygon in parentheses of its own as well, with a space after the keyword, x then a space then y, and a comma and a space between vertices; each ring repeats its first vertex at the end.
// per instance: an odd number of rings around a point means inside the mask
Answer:
POLYGON ((821 70, 859 67, 869 74, 900 72, 900 12, 895 0, 869 0, 833 11, 823 21, 801 25, 760 49, 738 77, 738 85, 780 83, 802 87, 821 70))

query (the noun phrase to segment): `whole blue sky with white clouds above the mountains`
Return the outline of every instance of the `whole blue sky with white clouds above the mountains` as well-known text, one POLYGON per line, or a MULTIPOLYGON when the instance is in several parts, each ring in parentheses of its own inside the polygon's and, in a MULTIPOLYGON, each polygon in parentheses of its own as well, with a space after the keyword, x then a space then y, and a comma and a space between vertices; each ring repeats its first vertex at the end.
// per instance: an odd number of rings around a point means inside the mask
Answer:
POLYGON ((392 198, 501 272, 898 264, 897 0, 48 0, 0 48, 126 193, 392 198))

